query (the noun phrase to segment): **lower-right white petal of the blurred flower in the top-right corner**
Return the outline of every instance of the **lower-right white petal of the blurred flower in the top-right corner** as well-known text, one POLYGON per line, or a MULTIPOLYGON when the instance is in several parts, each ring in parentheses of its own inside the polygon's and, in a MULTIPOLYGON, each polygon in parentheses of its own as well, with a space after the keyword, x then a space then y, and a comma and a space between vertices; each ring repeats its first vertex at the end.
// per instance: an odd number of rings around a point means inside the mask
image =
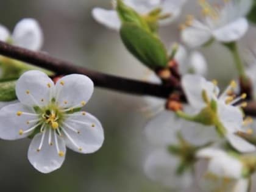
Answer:
POLYGON ((246 18, 240 18, 224 27, 214 30, 213 36, 216 40, 224 43, 237 41, 246 34, 248 27, 249 24, 246 18))

